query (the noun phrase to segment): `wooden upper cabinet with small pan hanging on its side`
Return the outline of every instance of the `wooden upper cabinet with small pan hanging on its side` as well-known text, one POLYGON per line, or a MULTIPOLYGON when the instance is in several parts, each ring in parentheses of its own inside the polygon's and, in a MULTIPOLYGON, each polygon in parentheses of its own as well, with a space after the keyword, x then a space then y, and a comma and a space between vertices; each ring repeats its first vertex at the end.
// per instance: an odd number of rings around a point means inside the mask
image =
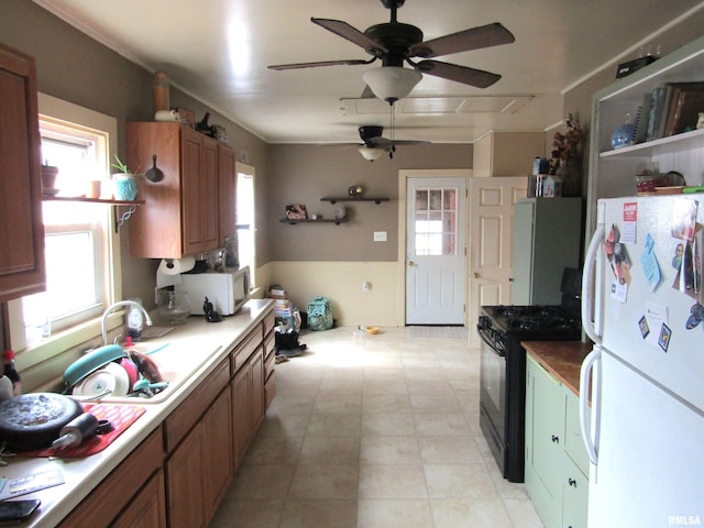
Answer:
POLYGON ((161 182, 138 182, 145 204, 130 219, 132 256, 178 258, 223 245, 219 146, 179 123, 128 123, 129 166, 144 172, 156 155, 164 173, 161 182))

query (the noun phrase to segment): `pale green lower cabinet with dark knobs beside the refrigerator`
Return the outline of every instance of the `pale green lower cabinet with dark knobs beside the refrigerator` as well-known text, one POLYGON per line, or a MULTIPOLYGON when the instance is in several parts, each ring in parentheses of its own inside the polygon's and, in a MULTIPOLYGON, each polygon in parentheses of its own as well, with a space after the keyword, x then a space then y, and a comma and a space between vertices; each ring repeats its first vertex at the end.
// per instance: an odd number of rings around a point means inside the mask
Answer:
POLYGON ((546 528, 586 527, 588 458, 580 431, 579 398, 530 353, 526 491, 546 528))

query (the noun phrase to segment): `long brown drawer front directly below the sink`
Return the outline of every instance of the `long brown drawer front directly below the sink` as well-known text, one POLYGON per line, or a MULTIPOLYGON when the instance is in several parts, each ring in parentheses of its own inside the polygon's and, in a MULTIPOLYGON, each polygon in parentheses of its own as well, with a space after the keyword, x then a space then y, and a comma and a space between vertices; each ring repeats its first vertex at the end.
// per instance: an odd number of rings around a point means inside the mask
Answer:
POLYGON ((230 362, 224 359, 165 421, 166 452, 170 453, 200 420, 220 392, 230 383, 230 362))

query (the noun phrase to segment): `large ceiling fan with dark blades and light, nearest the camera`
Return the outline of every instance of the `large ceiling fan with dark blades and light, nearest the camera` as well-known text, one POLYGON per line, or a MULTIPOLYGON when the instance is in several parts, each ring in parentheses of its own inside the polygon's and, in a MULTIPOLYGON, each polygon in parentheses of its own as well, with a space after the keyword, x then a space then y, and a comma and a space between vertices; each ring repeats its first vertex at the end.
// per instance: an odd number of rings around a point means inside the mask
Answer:
POLYGON ((433 75, 477 88, 487 88, 501 79, 502 76, 498 74, 431 59, 452 53, 514 42, 514 35, 501 23, 472 28, 424 42, 422 31, 415 25, 397 21, 397 10, 405 0, 381 0, 381 2, 391 10, 391 22, 372 25, 364 32, 341 20, 310 19, 312 23, 362 47, 372 55, 372 58, 367 61, 343 59, 282 64, 268 66, 268 68, 283 70, 318 66, 362 65, 372 64, 380 58, 382 67, 365 72, 364 80, 376 97, 389 105, 406 97, 420 81, 421 74, 433 75), (418 57, 420 61, 414 62, 411 57, 418 57), (404 68, 404 63, 410 65, 413 69, 404 68))

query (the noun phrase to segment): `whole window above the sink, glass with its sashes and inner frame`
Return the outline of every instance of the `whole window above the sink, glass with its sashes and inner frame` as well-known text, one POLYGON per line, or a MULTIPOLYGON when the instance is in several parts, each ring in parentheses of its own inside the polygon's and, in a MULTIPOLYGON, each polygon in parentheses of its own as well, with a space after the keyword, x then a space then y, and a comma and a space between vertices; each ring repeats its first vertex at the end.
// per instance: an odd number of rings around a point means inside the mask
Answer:
MULTIPOLYGON (((109 155, 114 152, 113 118, 40 95, 42 160, 58 167, 57 197, 86 195, 90 180, 108 180, 109 155), (112 142, 112 144, 111 144, 112 142)), ((16 350, 48 345, 51 333, 91 322, 119 292, 113 262, 119 262, 119 241, 112 230, 111 207, 103 204, 45 200, 43 202, 47 290, 25 296, 11 310, 16 350), (51 328, 51 331, 50 331, 51 328), (24 338, 24 339, 22 339, 24 338)), ((63 346, 77 344, 86 332, 63 346)))

